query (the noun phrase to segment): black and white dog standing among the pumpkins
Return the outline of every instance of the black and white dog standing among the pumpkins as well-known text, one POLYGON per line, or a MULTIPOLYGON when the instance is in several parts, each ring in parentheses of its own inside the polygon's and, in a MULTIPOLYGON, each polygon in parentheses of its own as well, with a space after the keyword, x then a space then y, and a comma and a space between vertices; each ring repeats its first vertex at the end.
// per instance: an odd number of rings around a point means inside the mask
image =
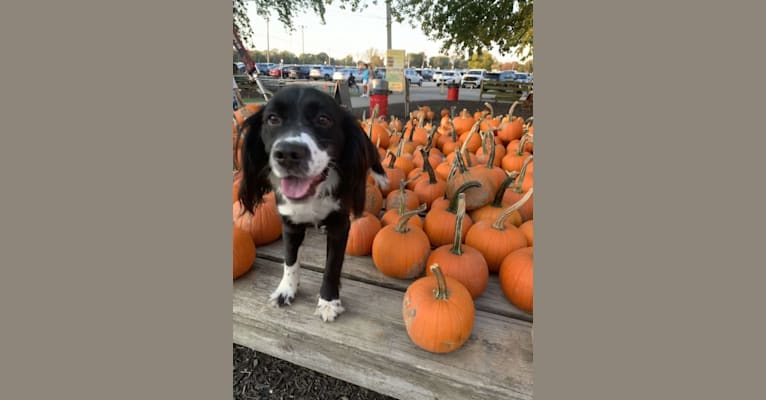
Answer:
POLYGON ((327 259, 315 314, 333 321, 344 311, 339 287, 349 216, 364 210, 368 171, 379 185, 388 184, 380 155, 356 117, 311 87, 281 89, 243 129, 239 200, 252 211, 274 190, 282 217, 284 271, 269 301, 294 300, 306 227, 324 226, 327 259))

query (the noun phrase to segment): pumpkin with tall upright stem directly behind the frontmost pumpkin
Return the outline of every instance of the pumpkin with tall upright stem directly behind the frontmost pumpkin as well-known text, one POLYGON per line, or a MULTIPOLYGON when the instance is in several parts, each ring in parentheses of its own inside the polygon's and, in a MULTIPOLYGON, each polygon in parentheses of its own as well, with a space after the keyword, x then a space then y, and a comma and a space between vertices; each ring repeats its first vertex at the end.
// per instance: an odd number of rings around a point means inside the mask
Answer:
MULTIPOLYGON (((489 269, 482 253, 476 248, 463 244, 462 225, 465 218, 465 194, 458 196, 458 211, 452 244, 445 244, 431 251, 428 265, 439 264, 444 275, 462 283, 474 299, 487 288, 489 269)), ((471 228, 473 229, 473 228, 471 228)), ((514 227, 515 229, 515 227, 514 227)), ((469 231, 470 232, 470 231, 469 231)), ((522 237, 523 239, 523 237, 522 237)), ((430 271, 426 271, 429 273, 430 271)))

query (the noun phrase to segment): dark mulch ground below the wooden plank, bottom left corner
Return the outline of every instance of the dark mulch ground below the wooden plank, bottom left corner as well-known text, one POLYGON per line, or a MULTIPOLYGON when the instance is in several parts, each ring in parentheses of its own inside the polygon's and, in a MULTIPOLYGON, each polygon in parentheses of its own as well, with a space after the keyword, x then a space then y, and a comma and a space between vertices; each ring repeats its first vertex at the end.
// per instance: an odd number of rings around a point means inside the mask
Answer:
POLYGON ((236 344, 233 359, 236 400, 394 400, 236 344))

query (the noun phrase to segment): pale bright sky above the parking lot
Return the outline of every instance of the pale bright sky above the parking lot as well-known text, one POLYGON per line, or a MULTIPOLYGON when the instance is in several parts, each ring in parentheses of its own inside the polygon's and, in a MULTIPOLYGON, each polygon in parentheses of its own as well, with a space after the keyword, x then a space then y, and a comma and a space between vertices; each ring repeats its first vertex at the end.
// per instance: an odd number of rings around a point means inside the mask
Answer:
MULTIPOLYGON (((327 6, 325 25, 321 24, 319 16, 307 12, 295 18, 295 32, 288 32, 284 25, 272 17, 269 22, 269 48, 287 50, 294 54, 317 54, 325 52, 334 58, 351 55, 354 59, 364 60, 369 48, 375 48, 380 55, 386 50, 386 6, 370 4, 364 11, 353 13, 341 10, 337 4, 327 6), (303 35, 301 35, 301 26, 303 35)), ((253 3, 247 3, 252 8, 253 3)), ((253 37, 249 41, 253 50, 266 51, 266 21, 248 10, 253 37)), ((392 20, 391 47, 405 50, 408 53, 425 52, 430 58, 442 54, 439 52, 441 43, 429 40, 419 28, 408 24, 399 24, 392 20)), ((496 50, 490 50, 496 60, 502 62, 518 61, 515 54, 501 56, 496 50)), ((279 62, 279 60, 271 60, 279 62)))

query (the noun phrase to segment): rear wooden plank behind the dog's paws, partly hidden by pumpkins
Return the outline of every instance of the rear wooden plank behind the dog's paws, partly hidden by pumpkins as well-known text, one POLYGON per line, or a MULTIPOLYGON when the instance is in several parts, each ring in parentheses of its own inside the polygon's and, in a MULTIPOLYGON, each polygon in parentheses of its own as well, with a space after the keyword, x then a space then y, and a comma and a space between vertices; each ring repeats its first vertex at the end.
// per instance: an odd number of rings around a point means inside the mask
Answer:
MULTIPOLYGON (((325 237, 317 229, 309 228, 306 231, 306 239, 303 242, 300 253, 301 265, 315 271, 324 270, 325 261, 325 237)), ((258 246, 257 256, 276 262, 284 261, 284 248, 282 241, 258 246)), ((346 256, 343 263, 342 276, 360 282, 375 284, 378 286, 405 291, 412 283, 412 279, 389 278, 381 273, 372 263, 370 257, 346 256)), ((487 289, 475 300, 476 309, 503 315, 506 317, 532 322, 532 315, 516 308, 511 304, 500 289, 500 281, 496 274, 491 274, 487 289)))

